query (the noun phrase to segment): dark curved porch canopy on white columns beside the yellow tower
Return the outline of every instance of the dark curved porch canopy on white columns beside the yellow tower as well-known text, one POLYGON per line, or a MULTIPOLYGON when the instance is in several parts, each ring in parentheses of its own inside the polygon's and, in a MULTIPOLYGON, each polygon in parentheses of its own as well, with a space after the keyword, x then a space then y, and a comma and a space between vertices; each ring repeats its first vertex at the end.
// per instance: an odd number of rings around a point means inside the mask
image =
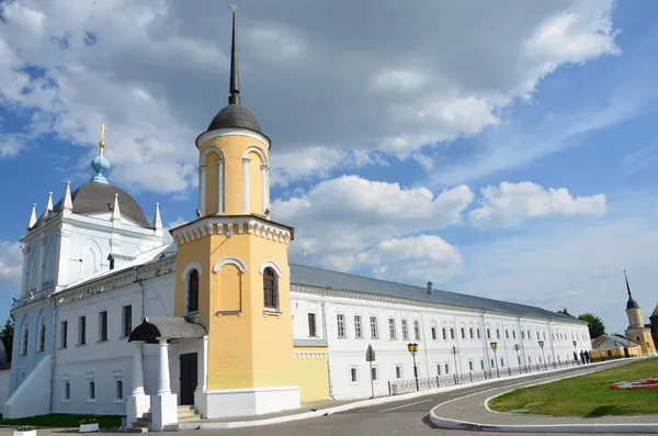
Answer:
POLYGON ((191 323, 184 317, 147 316, 131 333, 128 342, 141 340, 146 344, 158 344, 159 339, 200 339, 206 335, 201 324, 191 323))

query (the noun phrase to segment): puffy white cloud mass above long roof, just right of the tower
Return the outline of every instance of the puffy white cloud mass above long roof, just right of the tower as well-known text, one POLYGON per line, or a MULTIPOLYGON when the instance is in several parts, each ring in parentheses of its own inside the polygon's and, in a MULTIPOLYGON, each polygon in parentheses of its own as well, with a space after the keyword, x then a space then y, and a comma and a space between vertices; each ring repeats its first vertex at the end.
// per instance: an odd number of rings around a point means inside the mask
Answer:
POLYGON ((416 271, 427 280, 430 271, 433 277, 452 277, 461 258, 456 248, 439 236, 416 236, 460 224, 462 212, 472 202, 473 191, 466 186, 434 194, 426 188, 343 176, 288 200, 274 201, 272 216, 296 227, 294 243, 307 251, 305 262, 339 270, 366 267, 392 277, 395 271, 387 272, 387 266, 405 258, 417 265, 405 278, 416 271), (412 247, 419 258, 410 255, 412 247))

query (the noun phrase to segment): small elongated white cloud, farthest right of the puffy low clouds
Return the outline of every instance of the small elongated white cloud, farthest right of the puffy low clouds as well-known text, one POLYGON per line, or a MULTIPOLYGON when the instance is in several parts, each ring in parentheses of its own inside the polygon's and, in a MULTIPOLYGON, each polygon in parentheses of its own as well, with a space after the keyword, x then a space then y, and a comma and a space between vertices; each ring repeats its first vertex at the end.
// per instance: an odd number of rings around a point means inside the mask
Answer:
POLYGON ((501 182, 480 190, 481 205, 468 214, 474 227, 511 227, 543 216, 600 216, 606 212, 605 195, 574 198, 566 188, 544 189, 532 182, 501 182))

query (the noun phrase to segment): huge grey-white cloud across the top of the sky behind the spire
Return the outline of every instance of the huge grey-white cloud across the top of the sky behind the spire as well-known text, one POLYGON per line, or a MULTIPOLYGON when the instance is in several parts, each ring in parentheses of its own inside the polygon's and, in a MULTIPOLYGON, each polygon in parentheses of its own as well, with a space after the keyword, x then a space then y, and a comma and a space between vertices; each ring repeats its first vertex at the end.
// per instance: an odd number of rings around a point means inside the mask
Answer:
MULTIPOLYGON (((390 9, 366 1, 351 4, 345 21, 340 5, 257 2, 239 13, 242 102, 275 153, 308 148, 315 156, 299 168, 287 160, 276 172, 282 183, 329 177, 351 163, 349 149, 407 158, 422 145, 499 124, 501 108, 560 65, 619 53, 612 5, 521 2, 510 14, 498 4, 390 9)), ((225 7, 4 2, 0 99, 34 111, 29 133, 54 132, 90 147, 89 157, 104 121, 112 177, 160 192, 189 189, 196 179, 193 139, 226 102, 225 7)))

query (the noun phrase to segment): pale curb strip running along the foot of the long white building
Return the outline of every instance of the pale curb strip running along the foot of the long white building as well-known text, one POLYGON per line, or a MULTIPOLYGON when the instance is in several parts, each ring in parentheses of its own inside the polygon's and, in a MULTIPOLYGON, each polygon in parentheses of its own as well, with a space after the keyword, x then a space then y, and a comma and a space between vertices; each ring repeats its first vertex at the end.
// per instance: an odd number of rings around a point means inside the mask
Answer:
MULTIPOLYGON (((599 362, 599 364, 592 364, 592 365, 599 366, 602 364, 604 365, 604 364, 609 364, 609 362, 599 362)), ((552 373, 552 372, 569 371, 575 368, 580 368, 580 367, 549 369, 547 371, 541 371, 538 373, 547 374, 547 373, 552 373)), ((164 431, 177 432, 177 431, 191 431, 191 429, 241 428, 241 427, 258 427, 258 426, 262 426, 262 425, 281 424, 281 423, 287 423, 287 422, 292 422, 292 421, 308 420, 310 417, 331 415, 333 413, 340 413, 340 412, 345 412, 345 411, 350 411, 350 410, 354 410, 354 409, 367 407, 367 406, 372 406, 372 405, 396 403, 399 401, 434 395, 434 394, 441 393, 441 392, 458 391, 462 389, 468 389, 468 388, 473 388, 473 387, 477 387, 477 385, 494 383, 494 382, 500 381, 500 380, 522 379, 522 378, 525 378, 529 376, 533 376, 533 374, 524 373, 524 374, 509 376, 509 377, 504 377, 504 378, 480 380, 480 381, 473 382, 473 383, 456 384, 456 385, 451 385, 451 387, 445 387, 445 388, 428 389, 426 391, 405 393, 405 394, 400 394, 400 395, 379 396, 376 399, 355 401, 355 402, 349 403, 349 404, 342 404, 342 405, 338 405, 338 406, 333 406, 333 407, 321 409, 321 410, 318 410, 315 412, 297 413, 294 415, 276 416, 276 417, 264 418, 264 420, 236 421, 236 422, 178 423, 178 424, 171 424, 171 425, 166 426, 164 431)), ((431 414, 430 414, 430 416, 431 416, 431 414)))

